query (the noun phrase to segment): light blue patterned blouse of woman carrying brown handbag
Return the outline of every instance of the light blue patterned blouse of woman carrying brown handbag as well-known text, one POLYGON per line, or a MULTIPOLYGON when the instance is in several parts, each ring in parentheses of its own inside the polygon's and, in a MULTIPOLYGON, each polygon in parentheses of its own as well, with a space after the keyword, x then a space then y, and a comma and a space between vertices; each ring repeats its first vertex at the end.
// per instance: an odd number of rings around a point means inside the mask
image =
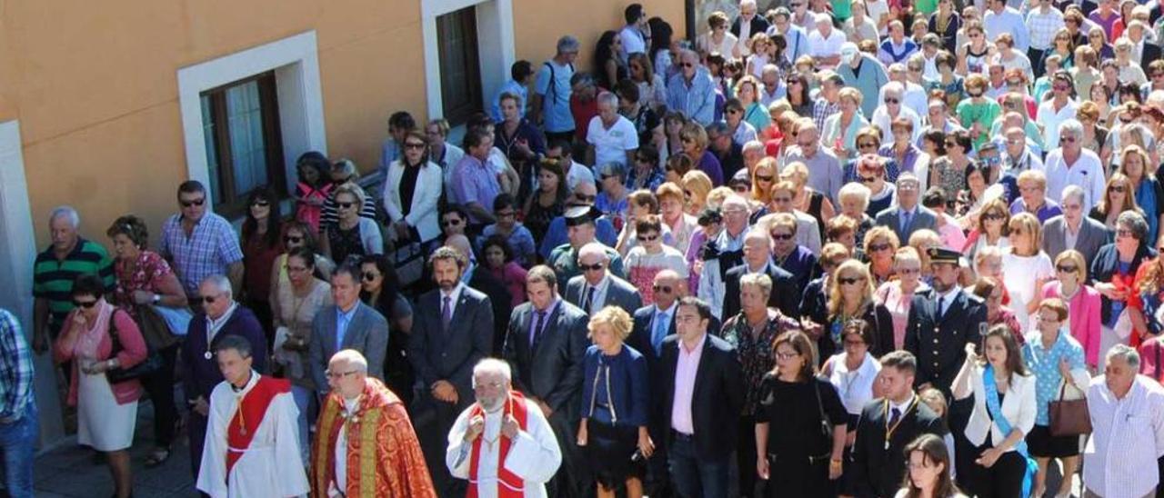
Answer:
POLYGON ((1049 426, 1051 417, 1048 408, 1051 401, 1059 399, 1059 384, 1063 383, 1059 362, 1066 358, 1069 369, 1086 369, 1084 347, 1066 329, 1059 330, 1059 337, 1051 344, 1051 349, 1043 347, 1043 339, 1037 333, 1028 337, 1022 347, 1022 357, 1027 368, 1035 374, 1035 403, 1038 405, 1035 424, 1049 426))

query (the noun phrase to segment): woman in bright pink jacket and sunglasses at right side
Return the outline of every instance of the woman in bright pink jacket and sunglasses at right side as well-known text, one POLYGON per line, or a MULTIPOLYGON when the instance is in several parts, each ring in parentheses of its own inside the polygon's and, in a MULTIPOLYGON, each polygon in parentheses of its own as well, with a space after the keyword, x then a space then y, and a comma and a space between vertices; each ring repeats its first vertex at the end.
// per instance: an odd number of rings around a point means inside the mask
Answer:
POLYGON ((1087 280, 1084 255, 1074 249, 1060 252, 1055 258, 1055 275, 1058 280, 1043 285, 1043 298, 1059 298, 1067 304, 1071 336, 1083 344, 1087 368, 1094 372, 1099 364, 1101 304, 1099 292, 1084 285, 1087 280))

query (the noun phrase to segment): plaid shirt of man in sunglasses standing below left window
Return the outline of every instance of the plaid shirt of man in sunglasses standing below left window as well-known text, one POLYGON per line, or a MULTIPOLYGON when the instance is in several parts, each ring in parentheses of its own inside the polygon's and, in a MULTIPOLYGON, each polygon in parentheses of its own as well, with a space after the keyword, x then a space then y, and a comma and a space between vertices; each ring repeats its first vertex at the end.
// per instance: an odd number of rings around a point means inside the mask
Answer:
POLYGON ((182 215, 175 214, 162 226, 162 257, 173 264, 186 296, 198 296, 198 285, 212 275, 227 275, 227 268, 242 261, 242 248, 230 222, 206 213, 194 225, 190 236, 182 228, 182 215))

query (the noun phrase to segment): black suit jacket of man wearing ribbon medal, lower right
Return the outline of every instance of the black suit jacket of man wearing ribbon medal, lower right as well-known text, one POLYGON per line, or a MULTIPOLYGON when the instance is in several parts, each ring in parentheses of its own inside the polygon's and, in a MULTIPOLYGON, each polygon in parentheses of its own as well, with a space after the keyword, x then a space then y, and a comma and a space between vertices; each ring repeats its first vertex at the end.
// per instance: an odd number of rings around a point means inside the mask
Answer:
POLYGON ((870 401, 857 424, 852 463, 846 472, 852 472, 853 495, 859 498, 893 497, 906 476, 906 456, 902 453, 906 446, 922 434, 946 434, 945 422, 917 400, 913 410, 902 414, 897 428, 889 436, 889 449, 886 449, 887 406, 881 398, 870 401))

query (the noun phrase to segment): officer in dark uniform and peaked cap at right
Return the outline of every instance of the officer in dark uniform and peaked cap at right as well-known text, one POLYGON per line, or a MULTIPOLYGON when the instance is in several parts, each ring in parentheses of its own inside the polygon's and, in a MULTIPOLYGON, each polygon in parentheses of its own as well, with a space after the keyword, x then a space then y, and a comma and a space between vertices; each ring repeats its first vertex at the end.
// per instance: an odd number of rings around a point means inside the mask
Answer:
MULTIPOLYGON (((937 387, 952 401, 950 385, 966 360, 966 344, 978 343, 986 327, 986 303, 958 286, 961 254, 930 248, 934 269, 931 289, 914 296, 906 327, 906 350, 917 358, 916 380, 921 387, 937 387)), ((954 435, 958 476, 967 476, 978 455, 963 435, 973 398, 950 403, 950 429, 954 435)))

